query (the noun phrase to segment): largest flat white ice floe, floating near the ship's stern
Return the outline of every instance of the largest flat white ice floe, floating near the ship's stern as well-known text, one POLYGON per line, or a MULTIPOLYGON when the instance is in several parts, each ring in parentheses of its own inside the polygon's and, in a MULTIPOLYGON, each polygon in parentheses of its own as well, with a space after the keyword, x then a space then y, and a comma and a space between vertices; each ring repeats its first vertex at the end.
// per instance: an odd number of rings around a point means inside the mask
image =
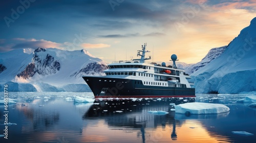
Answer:
POLYGON ((175 106, 176 112, 181 114, 218 114, 228 112, 230 109, 223 104, 214 103, 184 103, 175 106))

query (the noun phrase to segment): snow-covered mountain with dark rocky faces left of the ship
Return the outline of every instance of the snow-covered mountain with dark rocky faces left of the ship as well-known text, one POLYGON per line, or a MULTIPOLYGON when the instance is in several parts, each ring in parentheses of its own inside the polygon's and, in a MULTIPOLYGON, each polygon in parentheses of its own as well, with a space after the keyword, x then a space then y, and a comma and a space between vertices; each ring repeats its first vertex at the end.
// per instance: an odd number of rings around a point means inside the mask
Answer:
POLYGON ((89 91, 81 76, 103 75, 108 68, 86 50, 39 47, 33 53, 29 51, 0 53, 0 83, 10 84, 9 91, 89 91))

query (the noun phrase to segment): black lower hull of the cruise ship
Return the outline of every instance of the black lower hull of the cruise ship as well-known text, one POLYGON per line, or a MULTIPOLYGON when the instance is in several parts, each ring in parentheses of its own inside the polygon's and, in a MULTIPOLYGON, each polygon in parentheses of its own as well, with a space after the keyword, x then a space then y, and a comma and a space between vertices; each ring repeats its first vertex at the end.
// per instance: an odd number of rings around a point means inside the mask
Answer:
POLYGON ((141 80, 106 77, 82 77, 95 98, 195 97, 195 88, 143 85, 141 80))

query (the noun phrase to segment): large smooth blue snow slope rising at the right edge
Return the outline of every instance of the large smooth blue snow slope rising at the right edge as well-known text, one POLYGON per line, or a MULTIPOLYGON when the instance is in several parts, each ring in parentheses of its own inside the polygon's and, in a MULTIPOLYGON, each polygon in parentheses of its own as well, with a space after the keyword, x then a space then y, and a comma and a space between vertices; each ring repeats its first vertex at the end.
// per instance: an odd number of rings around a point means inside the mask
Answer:
POLYGON ((198 69, 196 92, 239 93, 256 91, 256 17, 234 38, 224 52, 198 69))

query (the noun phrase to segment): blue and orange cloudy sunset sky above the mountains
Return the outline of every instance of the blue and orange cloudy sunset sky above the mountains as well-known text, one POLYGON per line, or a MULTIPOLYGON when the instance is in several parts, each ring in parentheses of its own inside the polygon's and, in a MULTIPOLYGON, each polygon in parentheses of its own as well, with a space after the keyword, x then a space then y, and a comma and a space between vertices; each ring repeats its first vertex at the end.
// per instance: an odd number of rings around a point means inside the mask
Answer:
POLYGON ((256 3, 207 0, 20 0, 0 5, 0 53, 56 47, 111 63, 137 58, 197 63, 227 45, 256 16, 256 3))

